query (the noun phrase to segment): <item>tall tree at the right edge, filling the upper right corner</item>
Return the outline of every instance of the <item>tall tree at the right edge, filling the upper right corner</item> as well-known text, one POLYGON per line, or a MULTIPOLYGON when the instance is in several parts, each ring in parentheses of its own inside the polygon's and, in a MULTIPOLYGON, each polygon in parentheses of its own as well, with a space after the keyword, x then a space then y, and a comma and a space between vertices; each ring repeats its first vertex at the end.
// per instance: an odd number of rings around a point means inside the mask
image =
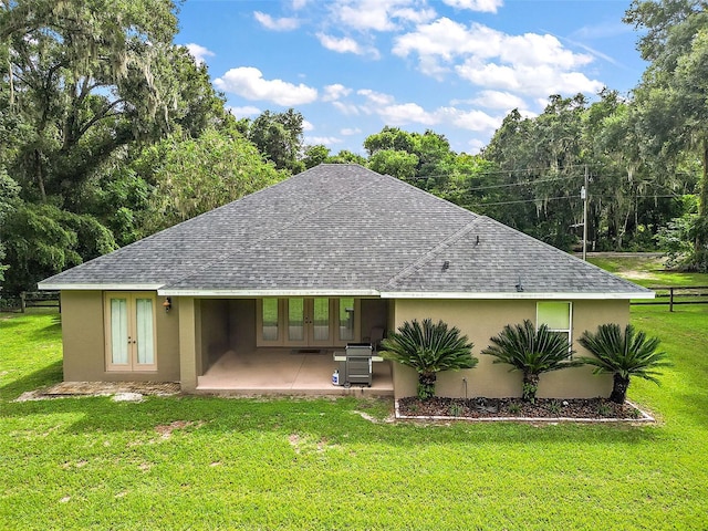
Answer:
POLYGON ((638 128, 647 157, 675 168, 687 153, 702 168, 691 269, 708 270, 708 12, 701 0, 634 0, 625 22, 643 31, 649 61, 636 88, 638 128))

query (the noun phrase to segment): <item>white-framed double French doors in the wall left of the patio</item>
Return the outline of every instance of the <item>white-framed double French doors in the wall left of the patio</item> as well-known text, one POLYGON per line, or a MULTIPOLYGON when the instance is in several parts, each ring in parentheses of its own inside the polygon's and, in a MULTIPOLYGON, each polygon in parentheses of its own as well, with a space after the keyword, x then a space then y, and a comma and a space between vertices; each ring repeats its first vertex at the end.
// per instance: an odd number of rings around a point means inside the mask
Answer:
POLYGON ((157 371, 155 295, 108 292, 104 309, 106 371, 157 371))

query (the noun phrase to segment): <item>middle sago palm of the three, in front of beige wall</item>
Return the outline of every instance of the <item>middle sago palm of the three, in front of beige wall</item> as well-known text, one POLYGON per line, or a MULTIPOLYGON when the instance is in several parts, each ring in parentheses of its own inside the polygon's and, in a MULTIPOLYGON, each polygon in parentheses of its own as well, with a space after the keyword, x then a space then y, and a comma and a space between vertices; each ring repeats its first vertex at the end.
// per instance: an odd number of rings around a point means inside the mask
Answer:
POLYGON ((511 365, 510 372, 523 373, 521 397, 524 402, 535 402, 541 374, 582 365, 577 360, 570 360, 573 351, 569 348, 568 336, 551 332, 545 324, 535 330, 529 320, 523 324, 506 325, 490 341, 493 344, 482 354, 494 356, 492 363, 511 365))

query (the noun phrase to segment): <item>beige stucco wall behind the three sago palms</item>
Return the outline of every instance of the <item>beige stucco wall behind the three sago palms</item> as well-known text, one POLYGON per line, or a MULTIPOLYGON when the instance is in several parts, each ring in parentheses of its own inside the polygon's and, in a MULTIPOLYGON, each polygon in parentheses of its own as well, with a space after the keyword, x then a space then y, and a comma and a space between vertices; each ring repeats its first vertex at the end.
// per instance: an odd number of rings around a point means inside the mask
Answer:
MULTIPOLYGON (((573 312, 572 335, 576 355, 589 355, 577 344, 585 330, 595 330, 601 323, 624 326, 629 319, 628 301, 571 301, 573 312)), ((389 327, 396 330, 405 321, 430 317, 457 326, 475 344, 472 354, 479 358, 473 369, 438 374, 436 393, 450 397, 509 397, 521 395, 521 373, 509 373, 509 366, 492 364, 493 357, 480 352, 489 346, 489 339, 506 324, 521 323, 524 319, 535 322, 537 301, 454 301, 454 300, 397 300, 392 301, 389 327), (465 379, 467 382, 465 382, 465 379)), ((416 373, 394 363, 396 397, 416 394, 416 373)), ((573 367, 541 376, 539 397, 589 398, 608 396, 612 391, 610 375, 593 375, 590 367, 573 367)))

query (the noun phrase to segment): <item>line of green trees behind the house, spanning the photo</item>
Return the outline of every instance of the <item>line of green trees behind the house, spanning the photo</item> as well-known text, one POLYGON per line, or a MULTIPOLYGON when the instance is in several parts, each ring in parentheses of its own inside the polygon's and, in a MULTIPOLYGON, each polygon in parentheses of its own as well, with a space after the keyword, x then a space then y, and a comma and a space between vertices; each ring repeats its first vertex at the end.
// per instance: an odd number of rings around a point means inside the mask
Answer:
POLYGON ((635 0, 649 66, 631 96, 512 111, 479 155, 384 127, 366 156, 305 146, 303 116, 236 119, 174 44, 164 0, 0 0, 4 295, 321 163, 357 163, 559 248, 655 250, 708 270, 708 21, 700 1, 635 0))

